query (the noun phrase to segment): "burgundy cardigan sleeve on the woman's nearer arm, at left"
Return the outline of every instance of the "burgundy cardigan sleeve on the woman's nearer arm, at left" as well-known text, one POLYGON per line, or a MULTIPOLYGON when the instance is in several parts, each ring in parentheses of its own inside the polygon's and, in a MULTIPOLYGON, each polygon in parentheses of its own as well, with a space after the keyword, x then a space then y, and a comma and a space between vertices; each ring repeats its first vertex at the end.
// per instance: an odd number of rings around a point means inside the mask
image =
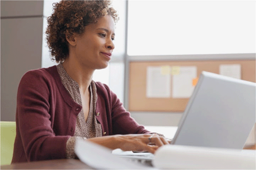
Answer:
POLYGON ((16 122, 28 161, 66 157, 70 136, 55 136, 49 113, 51 83, 40 70, 27 72, 17 94, 16 122))

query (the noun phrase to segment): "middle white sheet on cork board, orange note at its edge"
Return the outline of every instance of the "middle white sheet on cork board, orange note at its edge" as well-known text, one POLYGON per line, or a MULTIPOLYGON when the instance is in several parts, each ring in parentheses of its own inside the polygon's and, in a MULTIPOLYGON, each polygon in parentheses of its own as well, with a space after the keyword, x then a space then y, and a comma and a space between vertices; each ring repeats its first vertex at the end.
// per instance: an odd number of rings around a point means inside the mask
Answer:
POLYGON ((196 78, 196 67, 180 67, 178 75, 172 77, 172 97, 189 98, 194 91, 193 79, 196 78))

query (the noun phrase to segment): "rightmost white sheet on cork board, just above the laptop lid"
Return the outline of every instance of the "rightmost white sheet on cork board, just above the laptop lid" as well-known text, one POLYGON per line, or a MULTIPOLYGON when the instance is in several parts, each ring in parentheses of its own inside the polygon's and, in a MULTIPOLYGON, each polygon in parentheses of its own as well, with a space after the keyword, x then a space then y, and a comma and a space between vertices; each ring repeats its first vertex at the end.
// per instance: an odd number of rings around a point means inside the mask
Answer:
POLYGON ((241 64, 221 64, 220 75, 241 79, 241 64))

